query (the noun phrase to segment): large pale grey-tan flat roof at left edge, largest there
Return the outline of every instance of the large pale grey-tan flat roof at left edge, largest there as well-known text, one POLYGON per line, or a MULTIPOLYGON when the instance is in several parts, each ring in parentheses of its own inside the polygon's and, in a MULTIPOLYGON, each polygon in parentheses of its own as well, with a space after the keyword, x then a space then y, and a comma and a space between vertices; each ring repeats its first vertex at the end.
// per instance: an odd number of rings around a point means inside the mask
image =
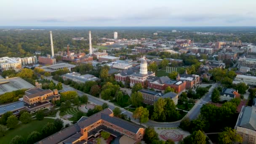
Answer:
POLYGON ((22 88, 28 89, 35 87, 20 77, 11 77, 8 79, 1 79, 0 81, 5 81, 5 83, 0 83, 0 94, 16 91, 22 88))

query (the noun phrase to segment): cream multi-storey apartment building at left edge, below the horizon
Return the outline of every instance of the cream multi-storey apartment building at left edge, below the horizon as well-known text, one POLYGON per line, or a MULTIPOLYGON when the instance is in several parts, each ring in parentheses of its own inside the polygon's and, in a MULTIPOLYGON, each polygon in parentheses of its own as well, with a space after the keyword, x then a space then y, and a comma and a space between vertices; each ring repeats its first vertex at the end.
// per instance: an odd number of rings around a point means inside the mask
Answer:
POLYGON ((16 72, 21 71, 21 59, 17 58, 9 58, 9 57, 2 57, 0 58, 0 68, 1 71, 5 70, 15 70, 16 72))

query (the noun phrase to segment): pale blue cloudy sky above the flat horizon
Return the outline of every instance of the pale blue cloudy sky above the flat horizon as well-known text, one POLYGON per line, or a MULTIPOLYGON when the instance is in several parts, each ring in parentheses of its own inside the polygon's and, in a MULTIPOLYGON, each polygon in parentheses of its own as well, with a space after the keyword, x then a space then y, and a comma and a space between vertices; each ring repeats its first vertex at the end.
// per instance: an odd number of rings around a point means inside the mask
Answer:
POLYGON ((0 26, 256 26, 256 0, 1 0, 0 26))

